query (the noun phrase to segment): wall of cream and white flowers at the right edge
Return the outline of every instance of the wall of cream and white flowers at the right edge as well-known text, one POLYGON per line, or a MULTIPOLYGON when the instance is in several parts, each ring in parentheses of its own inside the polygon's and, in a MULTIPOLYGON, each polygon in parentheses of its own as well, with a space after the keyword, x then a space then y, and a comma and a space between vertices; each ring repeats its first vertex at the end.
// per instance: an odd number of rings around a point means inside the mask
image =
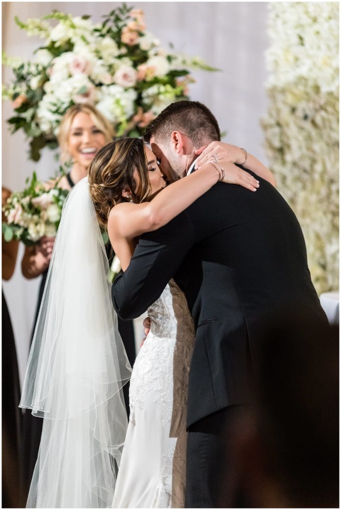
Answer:
POLYGON ((270 3, 270 167, 295 211, 318 293, 338 288, 338 3, 270 3))

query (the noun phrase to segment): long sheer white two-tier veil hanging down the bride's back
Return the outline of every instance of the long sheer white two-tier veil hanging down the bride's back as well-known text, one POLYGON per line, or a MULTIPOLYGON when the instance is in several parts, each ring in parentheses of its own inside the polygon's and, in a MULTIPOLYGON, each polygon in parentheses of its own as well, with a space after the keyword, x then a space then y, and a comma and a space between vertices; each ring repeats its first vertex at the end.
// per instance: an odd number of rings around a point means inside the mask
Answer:
POLYGON ((111 507, 130 377, 87 178, 67 196, 21 407, 44 418, 27 507, 111 507))

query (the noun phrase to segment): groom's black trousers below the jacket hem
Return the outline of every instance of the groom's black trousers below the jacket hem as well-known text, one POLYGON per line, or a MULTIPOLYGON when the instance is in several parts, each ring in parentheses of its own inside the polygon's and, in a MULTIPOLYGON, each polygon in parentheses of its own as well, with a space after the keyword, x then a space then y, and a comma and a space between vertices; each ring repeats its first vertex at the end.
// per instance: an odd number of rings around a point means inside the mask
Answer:
POLYGON ((189 427, 186 508, 248 507, 236 489, 231 439, 247 406, 233 405, 189 427))

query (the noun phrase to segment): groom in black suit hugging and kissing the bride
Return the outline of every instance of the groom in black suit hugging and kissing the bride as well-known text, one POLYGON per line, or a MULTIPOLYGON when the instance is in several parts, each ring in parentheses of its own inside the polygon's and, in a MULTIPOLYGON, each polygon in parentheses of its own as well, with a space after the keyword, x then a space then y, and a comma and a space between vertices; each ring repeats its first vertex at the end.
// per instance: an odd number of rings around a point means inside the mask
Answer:
MULTIPOLYGON (((179 101, 151 123, 145 139, 174 181, 193 169, 195 150, 219 140, 220 131, 204 105, 179 101)), ((300 225, 278 191, 257 179, 255 193, 217 184, 167 225, 141 236, 128 269, 112 287, 123 319, 141 315, 171 277, 186 295, 196 327, 186 507, 217 507, 233 476, 228 429, 250 402, 268 321, 276 314, 290 321, 298 309, 326 321, 300 225)))

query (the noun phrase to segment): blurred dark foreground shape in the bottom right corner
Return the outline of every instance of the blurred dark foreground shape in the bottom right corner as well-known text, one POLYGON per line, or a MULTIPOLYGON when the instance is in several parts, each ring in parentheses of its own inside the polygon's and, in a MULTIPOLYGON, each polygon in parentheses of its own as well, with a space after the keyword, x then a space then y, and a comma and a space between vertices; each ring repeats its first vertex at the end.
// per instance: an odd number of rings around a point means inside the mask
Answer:
POLYGON ((339 508, 338 340, 336 326, 299 314, 268 327, 220 506, 339 508))

